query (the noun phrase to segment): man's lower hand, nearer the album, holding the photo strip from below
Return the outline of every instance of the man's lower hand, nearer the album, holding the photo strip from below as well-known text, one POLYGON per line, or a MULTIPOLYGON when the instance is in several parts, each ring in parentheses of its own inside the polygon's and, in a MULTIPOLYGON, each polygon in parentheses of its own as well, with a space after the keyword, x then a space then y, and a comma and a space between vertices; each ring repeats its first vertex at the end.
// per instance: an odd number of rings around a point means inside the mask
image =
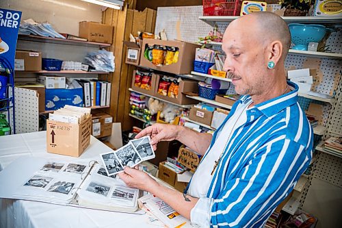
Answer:
POLYGON ((125 166, 124 173, 118 173, 118 175, 131 188, 139 188, 150 192, 159 186, 157 181, 149 177, 147 173, 135 168, 129 168, 129 166, 125 166))

